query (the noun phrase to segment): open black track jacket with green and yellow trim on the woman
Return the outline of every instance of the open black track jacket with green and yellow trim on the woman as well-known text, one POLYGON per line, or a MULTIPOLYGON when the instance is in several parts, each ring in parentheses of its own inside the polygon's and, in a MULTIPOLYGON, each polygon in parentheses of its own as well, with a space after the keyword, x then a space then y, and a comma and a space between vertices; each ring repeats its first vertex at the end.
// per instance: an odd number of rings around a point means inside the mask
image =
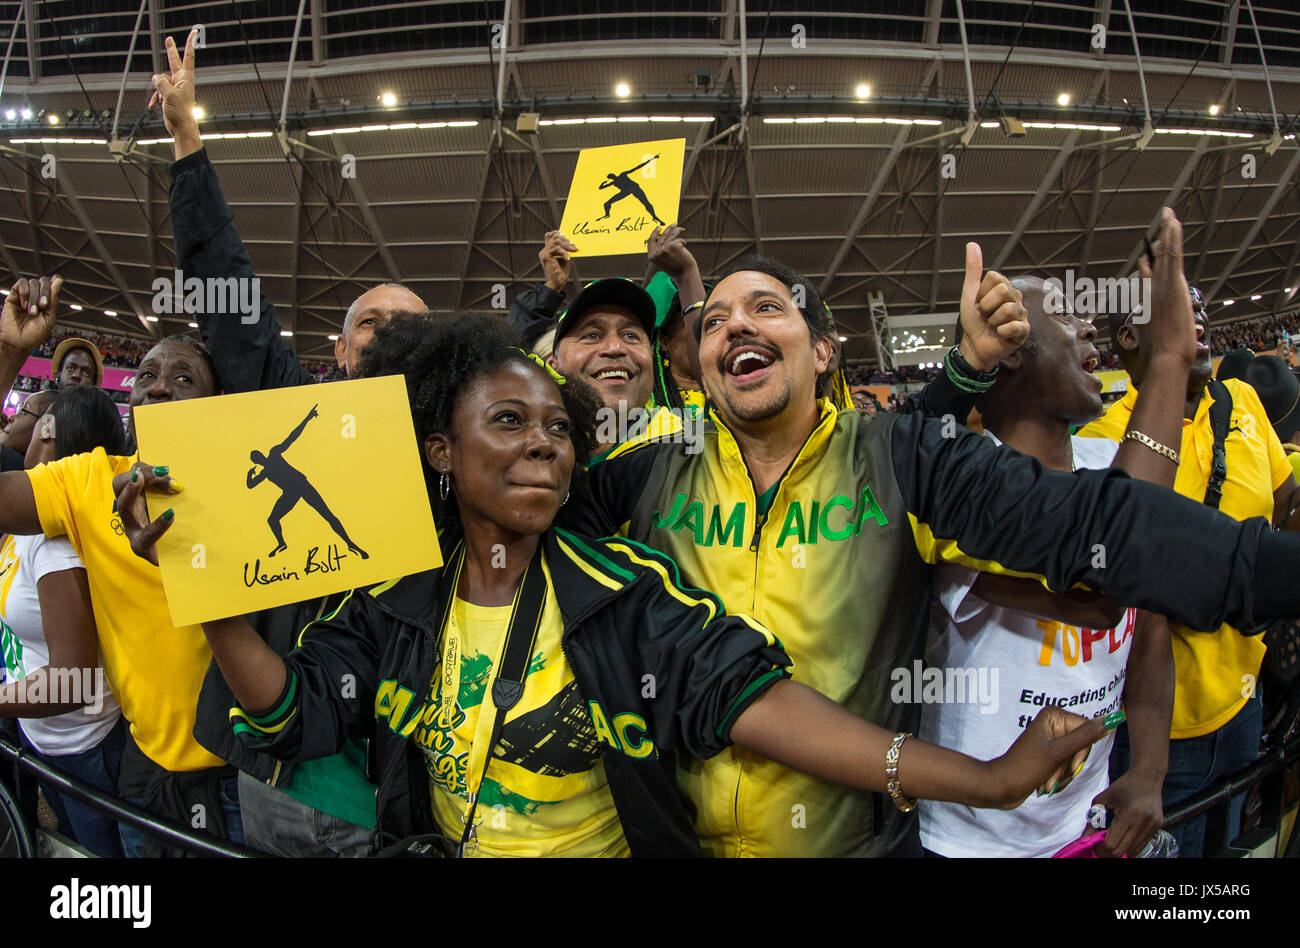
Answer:
MULTIPOLYGON (((441 540, 450 554, 456 538, 441 540)), ((736 718, 789 674, 781 644, 751 619, 727 615, 716 597, 684 586, 671 559, 634 541, 551 529, 542 544, 575 684, 593 718, 610 724, 601 754, 632 854, 701 856, 675 785, 676 758, 711 757, 731 744, 736 718)), ((286 759, 326 757, 348 736, 369 737, 377 847, 437 831, 422 752, 411 737, 436 707, 430 681, 448 573, 354 590, 303 631, 270 710, 230 711, 244 744, 286 759), (344 681, 354 687, 341 688, 344 681)))

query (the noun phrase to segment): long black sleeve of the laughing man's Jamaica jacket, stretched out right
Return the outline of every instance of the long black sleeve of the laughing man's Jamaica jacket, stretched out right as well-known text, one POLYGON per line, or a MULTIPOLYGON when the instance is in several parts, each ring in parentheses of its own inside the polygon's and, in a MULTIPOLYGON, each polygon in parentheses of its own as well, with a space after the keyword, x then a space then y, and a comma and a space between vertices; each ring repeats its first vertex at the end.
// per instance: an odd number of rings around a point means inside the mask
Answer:
POLYGON ((945 428, 909 415, 890 432, 927 562, 1034 577, 1058 592, 1079 584, 1195 629, 1300 615, 1300 534, 1274 534, 1262 518, 1232 520, 1114 468, 1048 471, 966 429, 944 437, 945 428))

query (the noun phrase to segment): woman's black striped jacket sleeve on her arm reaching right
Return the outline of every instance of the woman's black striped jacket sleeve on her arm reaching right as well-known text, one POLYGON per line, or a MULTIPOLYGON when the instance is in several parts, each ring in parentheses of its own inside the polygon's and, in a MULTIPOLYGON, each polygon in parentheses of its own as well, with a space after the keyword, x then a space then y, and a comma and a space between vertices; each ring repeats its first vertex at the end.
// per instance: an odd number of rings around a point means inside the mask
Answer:
POLYGON ((736 718, 790 676, 789 657, 760 623, 728 615, 716 596, 684 585, 662 553, 630 540, 604 546, 649 572, 629 603, 637 622, 628 628, 640 667, 653 675, 655 743, 712 757, 731 745, 736 718))

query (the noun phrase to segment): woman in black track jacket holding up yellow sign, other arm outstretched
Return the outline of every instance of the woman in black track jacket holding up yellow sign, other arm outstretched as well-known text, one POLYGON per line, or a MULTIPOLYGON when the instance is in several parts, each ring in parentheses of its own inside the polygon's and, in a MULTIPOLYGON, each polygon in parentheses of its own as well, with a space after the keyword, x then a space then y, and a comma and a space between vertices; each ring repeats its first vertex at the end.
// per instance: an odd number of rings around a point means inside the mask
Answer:
MULTIPOLYGON (((248 745, 311 759, 372 739, 381 847, 698 856, 673 761, 733 741, 904 808, 1015 806, 1105 732, 1044 709, 989 762, 892 735, 789 680, 776 636, 671 559, 556 527, 582 502, 598 404, 495 317, 394 317, 363 372, 406 377, 445 566, 354 590, 285 659, 243 618, 204 632, 248 745)), ((170 521, 136 515, 142 472, 118 507, 150 557, 170 521)))

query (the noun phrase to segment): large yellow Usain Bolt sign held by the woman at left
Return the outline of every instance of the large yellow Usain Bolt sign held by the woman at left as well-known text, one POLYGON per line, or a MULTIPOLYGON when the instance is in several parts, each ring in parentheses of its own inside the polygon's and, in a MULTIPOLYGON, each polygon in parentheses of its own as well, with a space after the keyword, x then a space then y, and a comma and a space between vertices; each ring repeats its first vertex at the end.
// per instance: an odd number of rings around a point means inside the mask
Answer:
POLYGON ((183 488, 147 495, 176 510, 157 554, 177 625, 442 563, 400 376, 138 406, 135 429, 183 488))

